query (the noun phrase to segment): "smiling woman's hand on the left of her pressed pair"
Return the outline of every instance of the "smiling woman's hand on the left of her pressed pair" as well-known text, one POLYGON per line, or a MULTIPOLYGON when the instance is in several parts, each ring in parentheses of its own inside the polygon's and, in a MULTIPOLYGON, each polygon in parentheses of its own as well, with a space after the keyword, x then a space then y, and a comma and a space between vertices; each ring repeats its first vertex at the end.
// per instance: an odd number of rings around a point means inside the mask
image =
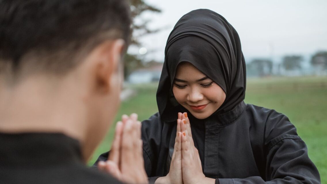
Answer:
POLYGON ((155 184, 182 184, 182 153, 181 153, 181 119, 182 114, 178 114, 177 132, 173 156, 171 158, 170 169, 167 176, 159 177, 155 184))

